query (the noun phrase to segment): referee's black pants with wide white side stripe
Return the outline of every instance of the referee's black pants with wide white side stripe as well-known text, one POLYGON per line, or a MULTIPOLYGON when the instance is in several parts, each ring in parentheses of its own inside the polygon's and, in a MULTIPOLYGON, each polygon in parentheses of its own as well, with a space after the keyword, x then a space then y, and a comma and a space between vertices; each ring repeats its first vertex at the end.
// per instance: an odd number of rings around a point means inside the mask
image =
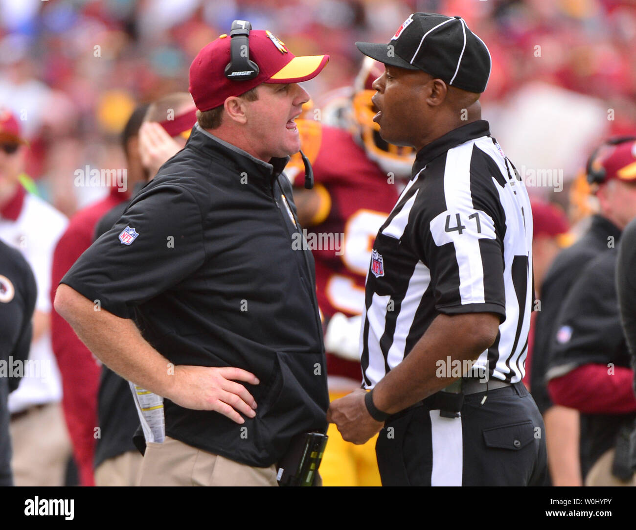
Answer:
POLYGON ((382 485, 546 484, 543 419, 522 383, 464 396, 458 418, 441 417, 427 401, 392 416, 380 431, 382 485))

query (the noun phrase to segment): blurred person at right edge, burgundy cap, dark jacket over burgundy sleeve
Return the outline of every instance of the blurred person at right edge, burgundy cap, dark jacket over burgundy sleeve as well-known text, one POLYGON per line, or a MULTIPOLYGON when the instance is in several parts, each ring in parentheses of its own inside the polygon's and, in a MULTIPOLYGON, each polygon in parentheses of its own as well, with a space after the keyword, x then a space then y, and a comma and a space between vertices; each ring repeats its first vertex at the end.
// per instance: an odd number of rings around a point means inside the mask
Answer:
POLYGON ((560 300, 548 345, 546 380, 553 403, 581 414, 584 484, 626 485, 632 478, 626 453, 636 397, 615 270, 621 231, 636 216, 636 139, 610 140, 597 162, 602 168, 596 179, 597 197, 607 215, 605 223, 618 233, 597 232, 599 255, 584 263, 560 300))

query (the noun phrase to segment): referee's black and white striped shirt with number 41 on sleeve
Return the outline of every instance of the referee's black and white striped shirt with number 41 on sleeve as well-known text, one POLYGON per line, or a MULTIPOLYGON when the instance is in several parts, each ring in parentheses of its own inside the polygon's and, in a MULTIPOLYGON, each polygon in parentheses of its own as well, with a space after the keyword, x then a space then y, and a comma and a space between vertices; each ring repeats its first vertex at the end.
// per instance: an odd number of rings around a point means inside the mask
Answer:
POLYGON ((474 370, 520 381, 532 296, 525 185, 488 122, 454 129, 418 152, 413 177, 375 239, 361 329, 364 386, 399 365, 438 314, 468 312, 501 319, 474 370))

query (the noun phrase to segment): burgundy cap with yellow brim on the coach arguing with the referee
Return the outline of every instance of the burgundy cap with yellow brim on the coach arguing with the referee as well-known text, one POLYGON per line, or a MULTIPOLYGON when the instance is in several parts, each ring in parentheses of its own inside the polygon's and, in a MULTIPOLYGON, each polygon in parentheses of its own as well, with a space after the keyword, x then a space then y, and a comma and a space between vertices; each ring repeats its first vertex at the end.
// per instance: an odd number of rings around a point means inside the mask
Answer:
POLYGON ((190 94, 202 112, 221 106, 228 97, 245 94, 261 83, 308 81, 329 61, 329 55, 296 57, 272 32, 256 29, 249 32, 249 59, 258 65, 258 76, 235 81, 225 76, 231 39, 224 34, 204 46, 190 66, 190 94))

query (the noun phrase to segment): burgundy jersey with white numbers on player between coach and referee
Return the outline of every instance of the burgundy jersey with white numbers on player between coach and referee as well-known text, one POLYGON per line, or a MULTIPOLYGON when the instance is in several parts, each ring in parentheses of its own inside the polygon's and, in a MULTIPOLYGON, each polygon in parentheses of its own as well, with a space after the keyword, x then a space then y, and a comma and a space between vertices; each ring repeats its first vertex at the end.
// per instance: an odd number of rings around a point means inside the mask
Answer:
MULTIPOLYGON (((361 314, 373 241, 397 201, 395 178, 369 160, 347 130, 313 120, 296 123, 302 150, 314 169, 314 189, 321 195, 316 224, 307 227, 318 303, 324 317, 361 314)), ((287 168, 294 186, 303 187, 300 155, 294 155, 287 168)), ((327 369, 329 375, 361 380, 358 362, 328 353, 327 369)))

